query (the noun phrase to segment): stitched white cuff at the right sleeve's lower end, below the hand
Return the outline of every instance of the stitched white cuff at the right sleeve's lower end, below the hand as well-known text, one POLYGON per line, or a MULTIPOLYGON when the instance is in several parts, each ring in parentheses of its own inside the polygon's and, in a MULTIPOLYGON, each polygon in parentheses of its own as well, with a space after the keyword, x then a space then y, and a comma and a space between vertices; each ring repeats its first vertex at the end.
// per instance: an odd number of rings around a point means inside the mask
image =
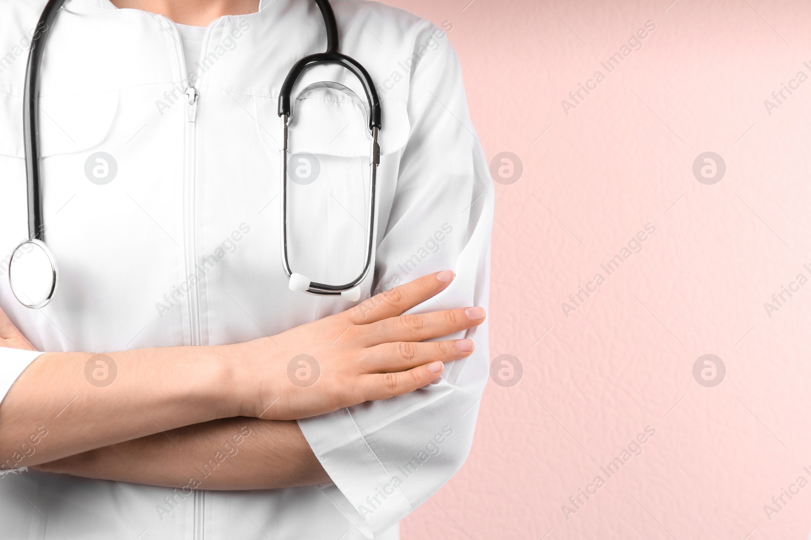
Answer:
POLYGON ((411 504, 370 448, 349 410, 298 420, 315 457, 332 478, 321 491, 367 538, 408 516, 411 504))

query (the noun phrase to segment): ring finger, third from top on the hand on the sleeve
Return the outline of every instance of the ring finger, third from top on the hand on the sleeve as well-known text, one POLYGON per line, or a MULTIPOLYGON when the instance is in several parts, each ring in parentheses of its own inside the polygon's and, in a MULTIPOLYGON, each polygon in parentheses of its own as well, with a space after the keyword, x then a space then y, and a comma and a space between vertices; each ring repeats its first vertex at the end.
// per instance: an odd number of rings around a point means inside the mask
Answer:
POLYGON ((394 342, 369 347, 363 353, 367 373, 395 373, 433 361, 450 362, 470 356, 471 339, 449 339, 442 342, 394 342))

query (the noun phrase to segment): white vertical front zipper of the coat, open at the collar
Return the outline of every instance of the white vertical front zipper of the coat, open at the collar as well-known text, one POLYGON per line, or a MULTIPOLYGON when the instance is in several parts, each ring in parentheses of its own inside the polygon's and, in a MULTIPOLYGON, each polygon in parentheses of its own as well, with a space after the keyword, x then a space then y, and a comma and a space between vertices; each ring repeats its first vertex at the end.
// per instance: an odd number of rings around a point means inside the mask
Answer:
MULTIPOLYGON (((206 41, 208 32, 211 31, 214 23, 219 19, 214 19, 208 24, 203 35, 203 43, 200 47, 200 62, 198 66, 203 66, 205 59, 206 41)), ((189 80, 186 66, 186 53, 183 51, 182 38, 174 22, 166 18, 172 26, 172 32, 177 38, 177 47, 180 51, 181 66, 183 71, 183 83, 186 85, 185 106, 186 106, 186 129, 184 130, 184 163, 183 163, 183 245, 184 256, 186 257, 186 279, 189 287, 189 326, 191 329, 191 345, 200 347, 200 289, 197 287, 197 247, 195 241, 195 221, 196 221, 196 146, 197 146, 197 102, 200 100, 200 91, 189 80)), ((198 77, 198 79, 200 79, 198 77)), ((204 540, 205 538, 205 491, 194 490, 194 529, 192 530, 193 540, 204 540)))

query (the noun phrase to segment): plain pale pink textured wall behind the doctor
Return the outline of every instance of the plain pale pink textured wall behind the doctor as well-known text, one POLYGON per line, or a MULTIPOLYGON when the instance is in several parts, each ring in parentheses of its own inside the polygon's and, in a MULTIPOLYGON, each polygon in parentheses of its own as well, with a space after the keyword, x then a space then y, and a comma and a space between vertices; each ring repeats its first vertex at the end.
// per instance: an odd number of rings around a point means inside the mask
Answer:
POLYGON ((402 538, 807 538, 811 486, 770 517, 764 505, 811 482, 811 283, 771 317, 764 303, 811 278, 811 80, 771 114, 764 100, 811 76, 811 6, 469 2, 388 0, 453 23, 485 153, 523 164, 496 185, 490 321, 491 357, 524 374, 488 382, 470 458, 402 538), (642 49, 607 74, 646 21, 642 49), (606 79, 564 113, 595 70, 606 79), (705 151, 726 164, 714 185, 693 175, 705 151), (566 317, 646 223, 642 252, 566 317), (727 369, 713 388, 693 378, 705 354, 727 369), (608 478, 646 426, 642 454, 608 478), (567 520, 561 505, 597 475, 567 520))

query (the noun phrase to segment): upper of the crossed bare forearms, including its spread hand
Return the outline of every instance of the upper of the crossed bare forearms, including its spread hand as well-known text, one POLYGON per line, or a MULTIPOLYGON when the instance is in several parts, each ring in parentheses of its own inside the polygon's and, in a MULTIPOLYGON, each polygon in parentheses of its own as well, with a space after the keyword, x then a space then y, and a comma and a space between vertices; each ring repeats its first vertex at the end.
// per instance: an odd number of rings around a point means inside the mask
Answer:
MULTIPOLYGON (((0 402, 0 469, 215 419, 304 419, 423 388, 444 362, 474 349, 465 339, 425 340, 484 320, 483 310, 466 308, 401 317, 452 281, 450 271, 428 274, 345 312, 235 345, 40 355, 0 402)), ((0 347, 27 343, 9 337, 7 319, 6 326, 4 334, 0 317, 0 347)), ((161 438, 169 439, 153 440, 161 438)))

